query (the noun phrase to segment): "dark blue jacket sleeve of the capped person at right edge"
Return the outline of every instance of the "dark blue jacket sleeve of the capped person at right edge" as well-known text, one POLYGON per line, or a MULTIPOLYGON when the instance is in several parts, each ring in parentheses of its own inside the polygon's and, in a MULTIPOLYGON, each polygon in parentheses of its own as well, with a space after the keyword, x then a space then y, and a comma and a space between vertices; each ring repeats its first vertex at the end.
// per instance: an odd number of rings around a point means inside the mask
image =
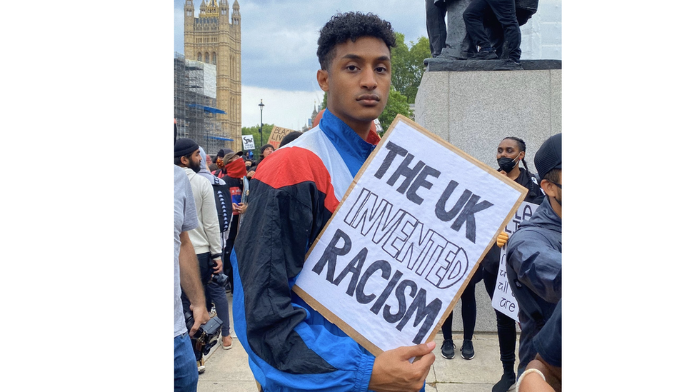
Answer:
POLYGON ((518 230, 508 241, 507 252, 518 281, 549 303, 561 299, 561 251, 546 236, 531 229, 518 230))

